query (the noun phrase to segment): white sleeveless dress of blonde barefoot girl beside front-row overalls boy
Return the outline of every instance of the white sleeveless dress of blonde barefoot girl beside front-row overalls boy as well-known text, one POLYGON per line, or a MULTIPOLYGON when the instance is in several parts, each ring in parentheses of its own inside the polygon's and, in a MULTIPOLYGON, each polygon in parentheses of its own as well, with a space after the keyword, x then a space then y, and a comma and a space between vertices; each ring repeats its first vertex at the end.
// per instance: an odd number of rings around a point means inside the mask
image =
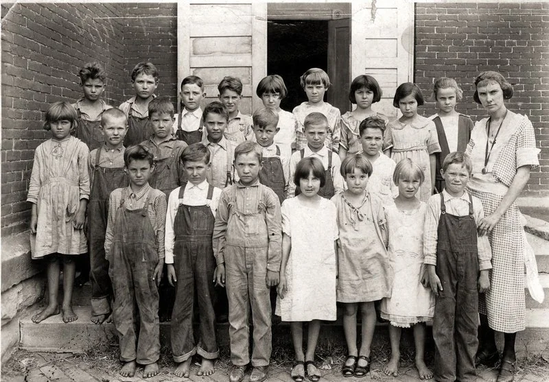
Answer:
POLYGON ((390 264, 395 272, 393 294, 384 298, 381 316, 393 326, 408 328, 431 321, 434 296, 430 287, 421 285, 423 265, 423 226, 427 204, 421 202, 411 211, 399 211, 396 204, 385 206, 389 228, 390 264))

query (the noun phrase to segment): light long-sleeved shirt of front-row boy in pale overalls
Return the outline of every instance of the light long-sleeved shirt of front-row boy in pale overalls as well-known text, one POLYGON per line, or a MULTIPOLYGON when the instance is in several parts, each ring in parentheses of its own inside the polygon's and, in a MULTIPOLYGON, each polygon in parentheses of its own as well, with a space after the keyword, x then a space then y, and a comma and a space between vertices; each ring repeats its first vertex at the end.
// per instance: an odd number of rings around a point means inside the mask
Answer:
POLYGON ((218 214, 215 215, 212 244, 213 255, 218 265, 225 262, 224 252, 227 245, 245 248, 267 246, 266 267, 272 272, 279 272, 282 258, 282 215, 277 194, 264 184, 260 184, 259 180, 248 186, 237 182, 224 189, 219 200, 218 214), (263 214, 261 219, 264 219, 266 224, 267 237, 246 235, 248 230, 258 228, 255 224, 246 224, 248 221, 243 219, 242 215, 253 215, 258 212, 263 214), (233 227, 231 232, 242 232, 242 234, 227 237, 229 217, 233 214, 237 216, 231 219, 231 224, 235 224, 236 227, 233 227))

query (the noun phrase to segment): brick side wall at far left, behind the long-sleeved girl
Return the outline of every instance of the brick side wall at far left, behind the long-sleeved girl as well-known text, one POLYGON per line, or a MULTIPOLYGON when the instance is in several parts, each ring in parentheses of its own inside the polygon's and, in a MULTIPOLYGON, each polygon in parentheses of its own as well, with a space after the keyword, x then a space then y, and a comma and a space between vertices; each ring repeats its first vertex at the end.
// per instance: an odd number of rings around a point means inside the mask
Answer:
POLYGON ((49 137, 43 117, 52 102, 81 97, 80 67, 100 60, 108 73, 106 101, 124 98, 122 24, 110 19, 121 9, 114 3, 2 5, 2 237, 28 228, 34 149, 49 137))

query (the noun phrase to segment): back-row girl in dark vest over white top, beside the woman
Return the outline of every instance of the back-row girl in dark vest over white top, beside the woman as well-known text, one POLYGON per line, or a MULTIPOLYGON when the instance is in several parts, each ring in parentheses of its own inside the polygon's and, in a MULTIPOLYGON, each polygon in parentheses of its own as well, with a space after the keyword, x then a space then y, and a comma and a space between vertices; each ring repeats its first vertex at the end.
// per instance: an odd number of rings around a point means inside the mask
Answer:
POLYGON ((433 85, 432 98, 436 101, 439 112, 430 117, 436 126, 441 152, 436 153, 436 180, 435 189, 442 192, 444 180, 442 164, 444 158, 451 152, 465 152, 471 138, 474 123, 467 115, 456 112, 456 102, 461 100, 463 91, 453 78, 437 78, 433 85))

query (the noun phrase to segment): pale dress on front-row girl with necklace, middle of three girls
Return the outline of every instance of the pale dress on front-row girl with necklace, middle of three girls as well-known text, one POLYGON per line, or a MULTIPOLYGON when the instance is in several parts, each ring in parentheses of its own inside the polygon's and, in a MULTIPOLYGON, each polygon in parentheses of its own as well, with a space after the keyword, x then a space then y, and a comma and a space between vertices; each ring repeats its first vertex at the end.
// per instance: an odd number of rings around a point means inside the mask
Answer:
POLYGON ((357 208, 344 193, 331 198, 338 208, 338 302, 370 302, 390 297, 393 268, 385 248, 382 200, 366 193, 357 208))

